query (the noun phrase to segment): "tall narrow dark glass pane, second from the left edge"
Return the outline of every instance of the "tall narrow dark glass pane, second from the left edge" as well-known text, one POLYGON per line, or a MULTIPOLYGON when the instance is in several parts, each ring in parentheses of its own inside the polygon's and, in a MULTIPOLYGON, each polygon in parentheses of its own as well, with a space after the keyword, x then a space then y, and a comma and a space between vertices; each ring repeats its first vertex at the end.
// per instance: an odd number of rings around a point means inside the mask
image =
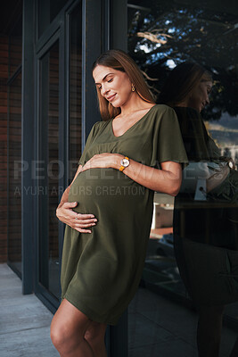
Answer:
POLYGON ((40 214, 40 282, 60 294, 58 205, 59 181, 59 43, 40 62, 40 159, 37 162, 40 214))

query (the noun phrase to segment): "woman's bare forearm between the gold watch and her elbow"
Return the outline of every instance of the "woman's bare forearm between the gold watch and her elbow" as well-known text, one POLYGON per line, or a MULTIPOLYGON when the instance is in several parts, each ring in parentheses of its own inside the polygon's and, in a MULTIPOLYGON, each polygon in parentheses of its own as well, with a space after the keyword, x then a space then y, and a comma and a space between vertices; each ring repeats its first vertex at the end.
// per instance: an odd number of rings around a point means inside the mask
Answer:
MULTIPOLYGON (((123 156, 122 156, 123 157, 123 156)), ((120 160, 115 169, 119 170, 120 160)), ((162 162, 162 170, 154 169, 130 159, 130 164, 123 170, 124 174, 138 184, 168 195, 177 195, 181 186, 182 169, 176 162, 162 162)))

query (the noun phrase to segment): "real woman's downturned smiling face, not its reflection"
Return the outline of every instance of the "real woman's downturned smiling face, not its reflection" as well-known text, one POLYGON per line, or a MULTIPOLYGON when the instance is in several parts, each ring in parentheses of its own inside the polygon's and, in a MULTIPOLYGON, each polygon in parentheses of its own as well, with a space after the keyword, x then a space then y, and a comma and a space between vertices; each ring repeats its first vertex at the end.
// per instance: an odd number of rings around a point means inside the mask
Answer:
POLYGON ((100 94, 116 108, 127 104, 131 95, 135 94, 131 90, 131 81, 126 72, 97 65, 93 77, 100 94))

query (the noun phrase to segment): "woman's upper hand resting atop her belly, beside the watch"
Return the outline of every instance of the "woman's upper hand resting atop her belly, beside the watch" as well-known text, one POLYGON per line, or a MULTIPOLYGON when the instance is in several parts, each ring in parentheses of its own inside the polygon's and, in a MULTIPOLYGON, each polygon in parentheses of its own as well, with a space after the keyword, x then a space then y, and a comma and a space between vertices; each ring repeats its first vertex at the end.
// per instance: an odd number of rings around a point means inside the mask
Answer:
POLYGON ((99 169, 99 168, 112 168, 119 169, 120 161, 123 159, 123 155, 103 153, 94 155, 86 164, 82 167, 82 171, 89 169, 99 169))

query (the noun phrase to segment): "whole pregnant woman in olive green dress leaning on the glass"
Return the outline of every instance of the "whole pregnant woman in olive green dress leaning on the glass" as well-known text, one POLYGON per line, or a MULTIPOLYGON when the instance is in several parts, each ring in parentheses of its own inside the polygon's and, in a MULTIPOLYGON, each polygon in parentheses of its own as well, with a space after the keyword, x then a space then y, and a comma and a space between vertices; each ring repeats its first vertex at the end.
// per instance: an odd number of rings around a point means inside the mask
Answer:
POLYGON ((153 191, 176 195, 186 161, 175 112, 153 103, 127 54, 102 54, 93 76, 105 121, 94 124, 57 209, 67 224, 52 323, 62 356, 106 355, 106 324, 117 323, 139 284, 153 191))

